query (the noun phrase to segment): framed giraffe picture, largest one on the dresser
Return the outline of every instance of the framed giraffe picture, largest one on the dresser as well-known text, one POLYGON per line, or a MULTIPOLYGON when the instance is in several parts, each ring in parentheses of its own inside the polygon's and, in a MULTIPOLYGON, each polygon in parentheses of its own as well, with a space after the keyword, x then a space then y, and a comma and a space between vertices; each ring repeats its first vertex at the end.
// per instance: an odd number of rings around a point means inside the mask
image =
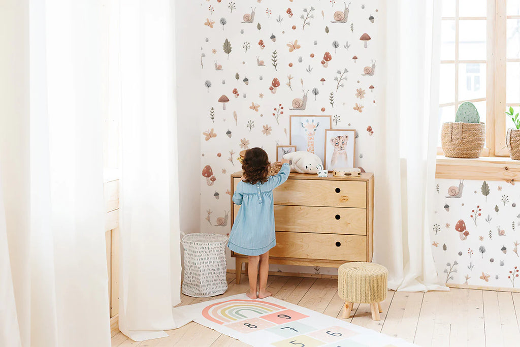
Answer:
POLYGON ((296 150, 315 153, 325 159, 325 131, 332 129, 330 115, 291 115, 289 138, 296 150))

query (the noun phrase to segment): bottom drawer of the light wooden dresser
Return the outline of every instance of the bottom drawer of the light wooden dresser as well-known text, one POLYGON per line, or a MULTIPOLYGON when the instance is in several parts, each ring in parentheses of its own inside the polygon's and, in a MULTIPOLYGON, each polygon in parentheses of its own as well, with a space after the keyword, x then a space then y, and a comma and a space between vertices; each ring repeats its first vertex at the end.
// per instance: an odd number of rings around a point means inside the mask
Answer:
POLYGON ((276 233, 269 256, 301 259, 367 261, 367 237, 310 233, 276 233))

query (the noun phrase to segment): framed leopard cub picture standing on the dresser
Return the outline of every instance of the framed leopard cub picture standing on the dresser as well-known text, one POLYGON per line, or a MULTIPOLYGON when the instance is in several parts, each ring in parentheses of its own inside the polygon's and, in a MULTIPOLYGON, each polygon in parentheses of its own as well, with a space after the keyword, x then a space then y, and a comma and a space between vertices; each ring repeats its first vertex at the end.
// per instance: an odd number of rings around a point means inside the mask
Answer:
POLYGON ((355 168, 356 131, 353 129, 325 131, 325 168, 355 168))

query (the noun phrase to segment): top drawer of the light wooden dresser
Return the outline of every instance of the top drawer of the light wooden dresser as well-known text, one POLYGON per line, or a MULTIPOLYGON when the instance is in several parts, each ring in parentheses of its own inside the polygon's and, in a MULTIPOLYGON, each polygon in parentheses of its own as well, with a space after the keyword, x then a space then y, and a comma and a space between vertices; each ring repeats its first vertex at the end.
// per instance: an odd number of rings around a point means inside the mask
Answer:
POLYGON ((288 179, 273 195, 278 205, 367 207, 365 182, 288 179))

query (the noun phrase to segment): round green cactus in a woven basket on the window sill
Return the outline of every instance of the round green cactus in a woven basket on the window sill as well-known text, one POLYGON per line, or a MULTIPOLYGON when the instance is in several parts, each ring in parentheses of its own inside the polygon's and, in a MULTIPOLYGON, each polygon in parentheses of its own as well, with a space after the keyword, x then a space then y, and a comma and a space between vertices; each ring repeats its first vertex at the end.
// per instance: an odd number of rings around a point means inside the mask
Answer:
POLYGON ((443 123, 441 144, 446 157, 478 158, 485 142, 486 125, 471 102, 459 106, 454 122, 443 123))

